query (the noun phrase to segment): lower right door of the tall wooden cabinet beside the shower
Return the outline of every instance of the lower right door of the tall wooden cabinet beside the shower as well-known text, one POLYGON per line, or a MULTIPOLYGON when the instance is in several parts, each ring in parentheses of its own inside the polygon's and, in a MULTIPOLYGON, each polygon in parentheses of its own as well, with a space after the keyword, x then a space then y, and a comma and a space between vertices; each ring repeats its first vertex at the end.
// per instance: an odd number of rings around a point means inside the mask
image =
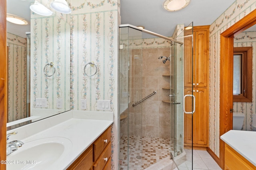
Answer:
POLYGON ((196 111, 194 113, 194 137, 196 146, 204 145, 208 147, 209 134, 209 105, 208 89, 195 88, 196 111))

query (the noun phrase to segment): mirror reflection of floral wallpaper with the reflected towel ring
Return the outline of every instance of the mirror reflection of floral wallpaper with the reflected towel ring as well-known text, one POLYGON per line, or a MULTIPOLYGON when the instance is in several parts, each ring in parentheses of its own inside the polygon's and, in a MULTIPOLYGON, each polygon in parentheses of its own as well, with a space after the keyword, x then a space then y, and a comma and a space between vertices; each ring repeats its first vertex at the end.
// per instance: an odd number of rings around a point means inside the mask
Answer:
POLYGON ((47 109, 55 109, 56 112, 60 109, 69 110, 70 25, 61 18, 34 13, 31 15, 30 24, 31 115, 36 108, 36 98, 46 98, 47 109), (53 63, 54 67, 48 63, 53 63), (57 99, 62 99, 62 108, 57 108, 57 99))

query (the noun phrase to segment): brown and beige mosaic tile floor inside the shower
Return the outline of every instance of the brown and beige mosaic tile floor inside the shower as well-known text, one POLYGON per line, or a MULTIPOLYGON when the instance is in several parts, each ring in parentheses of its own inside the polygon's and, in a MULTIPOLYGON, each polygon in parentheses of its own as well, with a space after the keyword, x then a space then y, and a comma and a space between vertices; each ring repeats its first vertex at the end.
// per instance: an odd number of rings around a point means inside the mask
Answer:
POLYGON ((120 170, 144 170, 173 152, 170 139, 140 136, 122 136, 120 139, 120 170), (128 147, 129 141, 129 147, 128 147), (127 153, 129 152, 129 155, 127 153))

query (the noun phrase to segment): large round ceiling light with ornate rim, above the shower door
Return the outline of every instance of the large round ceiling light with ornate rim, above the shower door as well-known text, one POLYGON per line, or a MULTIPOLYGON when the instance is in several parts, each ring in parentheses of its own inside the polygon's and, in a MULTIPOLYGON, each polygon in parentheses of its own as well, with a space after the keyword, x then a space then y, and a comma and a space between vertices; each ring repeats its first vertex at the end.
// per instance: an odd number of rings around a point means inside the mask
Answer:
POLYGON ((185 8, 190 0, 166 0, 164 1, 164 9, 167 11, 178 11, 185 8))

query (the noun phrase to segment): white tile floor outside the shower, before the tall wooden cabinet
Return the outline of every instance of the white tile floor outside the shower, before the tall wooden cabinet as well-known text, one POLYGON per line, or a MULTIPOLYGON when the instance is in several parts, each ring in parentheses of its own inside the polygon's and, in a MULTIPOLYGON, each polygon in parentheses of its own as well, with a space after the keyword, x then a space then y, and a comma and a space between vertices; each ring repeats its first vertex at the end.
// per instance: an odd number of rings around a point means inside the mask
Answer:
MULTIPOLYGON (((192 151, 185 149, 187 161, 178 166, 179 170, 192 170, 192 151)), ((193 170, 221 170, 206 150, 193 150, 193 170)))

